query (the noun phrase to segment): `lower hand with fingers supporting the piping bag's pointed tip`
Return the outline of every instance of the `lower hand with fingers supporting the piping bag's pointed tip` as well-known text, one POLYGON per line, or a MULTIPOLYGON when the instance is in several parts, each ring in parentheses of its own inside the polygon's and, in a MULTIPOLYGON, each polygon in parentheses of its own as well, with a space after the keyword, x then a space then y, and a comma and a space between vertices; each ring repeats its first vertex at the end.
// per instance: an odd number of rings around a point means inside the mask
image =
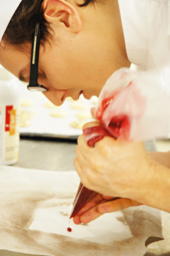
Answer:
POLYGON ((137 205, 141 204, 128 198, 111 198, 97 194, 75 215, 73 221, 75 224, 87 224, 104 213, 116 212, 137 205))

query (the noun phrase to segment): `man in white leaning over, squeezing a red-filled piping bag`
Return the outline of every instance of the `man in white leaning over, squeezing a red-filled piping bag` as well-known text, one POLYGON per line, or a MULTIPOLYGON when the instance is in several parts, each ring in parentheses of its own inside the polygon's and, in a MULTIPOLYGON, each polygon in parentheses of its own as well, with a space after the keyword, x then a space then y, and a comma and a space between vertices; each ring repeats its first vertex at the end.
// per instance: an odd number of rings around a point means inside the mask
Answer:
MULTIPOLYGON (((32 36, 39 24, 38 83, 57 106, 67 96, 74 100, 80 94, 86 99, 99 96, 107 79, 121 67, 135 64, 143 71, 169 65, 169 0, 13 2, 15 6, 8 0, 3 7, 10 15, 1 13, 1 24, 5 20, 6 25, 0 32, 0 64, 29 82, 32 36)), ((85 128, 94 125, 99 123, 85 128)), ((169 154, 147 153, 143 142, 111 137, 90 148, 80 135, 76 171, 84 186, 99 194, 74 222, 88 223, 104 213, 140 204, 170 212, 169 154)))

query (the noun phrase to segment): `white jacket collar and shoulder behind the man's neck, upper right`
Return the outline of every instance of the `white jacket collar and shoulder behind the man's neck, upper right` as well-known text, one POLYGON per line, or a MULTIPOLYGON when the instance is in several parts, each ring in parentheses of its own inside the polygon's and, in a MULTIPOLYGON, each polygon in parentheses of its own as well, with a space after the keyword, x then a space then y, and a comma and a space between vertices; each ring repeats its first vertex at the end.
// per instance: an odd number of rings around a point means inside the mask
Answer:
POLYGON ((129 61, 140 70, 170 65, 170 0, 118 0, 129 61))

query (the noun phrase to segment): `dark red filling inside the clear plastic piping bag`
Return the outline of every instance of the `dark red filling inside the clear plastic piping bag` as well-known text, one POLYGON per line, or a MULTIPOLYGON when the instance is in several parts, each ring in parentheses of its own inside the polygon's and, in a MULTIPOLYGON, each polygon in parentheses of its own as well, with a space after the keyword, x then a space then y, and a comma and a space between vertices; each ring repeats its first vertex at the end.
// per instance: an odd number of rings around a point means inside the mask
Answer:
MULTIPOLYGON (((118 137, 124 139, 129 138, 130 120, 128 116, 119 115, 112 117, 108 127, 104 127, 104 124, 102 123, 104 111, 112 102, 115 95, 116 94, 104 98, 100 108, 97 110, 96 118, 101 122, 101 125, 84 129, 83 133, 88 146, 94 146, 95 143, 102 140, 104 136, 114 137, 114 139, 117 139, 118 137)), ((86 205, 97 194, 95 191, 88 190, 86 187, 82 188, 82 186, 83 184, 80 183, 75 200, 77 196, 79 196, 79 198, 73 206, 73 212, 70 219, 74 217, 76 213, 78 213, 80 209, 82 209, 84 205, 86 205), (80 192, 81 188, 82 191, 80 192)))

